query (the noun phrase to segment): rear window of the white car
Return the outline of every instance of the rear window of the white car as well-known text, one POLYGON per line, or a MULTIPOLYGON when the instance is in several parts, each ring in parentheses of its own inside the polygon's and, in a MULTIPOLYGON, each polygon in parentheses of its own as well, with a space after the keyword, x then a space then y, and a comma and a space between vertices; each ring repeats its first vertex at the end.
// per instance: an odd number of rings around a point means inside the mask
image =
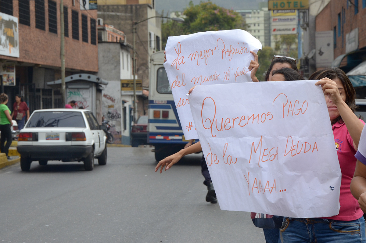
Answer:
POLYGON ((42 111, 34 112, 27 127, 86 127, 81 112, 42 111))

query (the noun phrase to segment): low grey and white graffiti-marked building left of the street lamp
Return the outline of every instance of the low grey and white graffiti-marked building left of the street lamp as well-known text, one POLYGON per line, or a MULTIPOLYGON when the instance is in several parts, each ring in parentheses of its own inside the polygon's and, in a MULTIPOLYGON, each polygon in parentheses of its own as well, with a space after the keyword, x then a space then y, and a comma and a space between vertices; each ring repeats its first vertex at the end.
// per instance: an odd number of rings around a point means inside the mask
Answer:
MULTIPOLYGON (((98 26, 98 76, 108 81, 102 91, 102 114, 111 125, 114 143, 130 145, 133 91, 132 46, 126 35, 106 24, 98 26)), ((140 82, 140 89, 142 87, 140 82)))

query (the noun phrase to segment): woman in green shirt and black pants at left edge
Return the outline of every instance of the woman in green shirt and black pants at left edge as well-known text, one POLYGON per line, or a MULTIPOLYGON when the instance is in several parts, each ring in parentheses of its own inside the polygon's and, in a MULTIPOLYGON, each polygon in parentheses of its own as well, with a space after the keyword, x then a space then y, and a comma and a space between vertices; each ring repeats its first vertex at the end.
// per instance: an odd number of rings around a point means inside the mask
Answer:
POLYGON ((6 105, 7 103, 8 96, 4 93, 0 94, 0 152, 5 153, 7 158, 10 159, 8 156, 9 147, 12 142, 10 127, 12 126, 13 122, 10 116, 10 109, 6 105))

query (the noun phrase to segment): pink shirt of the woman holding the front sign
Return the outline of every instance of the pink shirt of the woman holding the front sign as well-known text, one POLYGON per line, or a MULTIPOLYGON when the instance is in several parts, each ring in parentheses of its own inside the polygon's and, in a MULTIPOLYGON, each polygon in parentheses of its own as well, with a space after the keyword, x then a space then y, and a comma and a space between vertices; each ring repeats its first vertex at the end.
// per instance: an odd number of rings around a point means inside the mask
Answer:
MULTIPOLYGON (((362 123, 365 124, 363 121, 362 123)), ((351 135, 344 123, 337 122, 333 124, 332 129, 339 165, 342 172, 339 195, 339 203, 341 207, 338 215, 327 218, 343 221, 356 220, 361 218, 363 215, 358 201, 352 196, 350 190, 351 180, 356 167, 356 150, 353 147, 353 139, 351 138, 351 135)))

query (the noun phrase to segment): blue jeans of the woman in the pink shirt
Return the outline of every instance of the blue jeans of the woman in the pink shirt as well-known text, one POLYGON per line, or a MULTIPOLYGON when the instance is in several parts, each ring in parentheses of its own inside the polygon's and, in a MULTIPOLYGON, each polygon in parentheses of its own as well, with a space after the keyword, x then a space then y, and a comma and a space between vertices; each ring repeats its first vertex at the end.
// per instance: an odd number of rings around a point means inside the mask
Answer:
POLYGON ((283 219, 282 242, 365 242, 365 220, 340 221, 326 218, 283 219))

